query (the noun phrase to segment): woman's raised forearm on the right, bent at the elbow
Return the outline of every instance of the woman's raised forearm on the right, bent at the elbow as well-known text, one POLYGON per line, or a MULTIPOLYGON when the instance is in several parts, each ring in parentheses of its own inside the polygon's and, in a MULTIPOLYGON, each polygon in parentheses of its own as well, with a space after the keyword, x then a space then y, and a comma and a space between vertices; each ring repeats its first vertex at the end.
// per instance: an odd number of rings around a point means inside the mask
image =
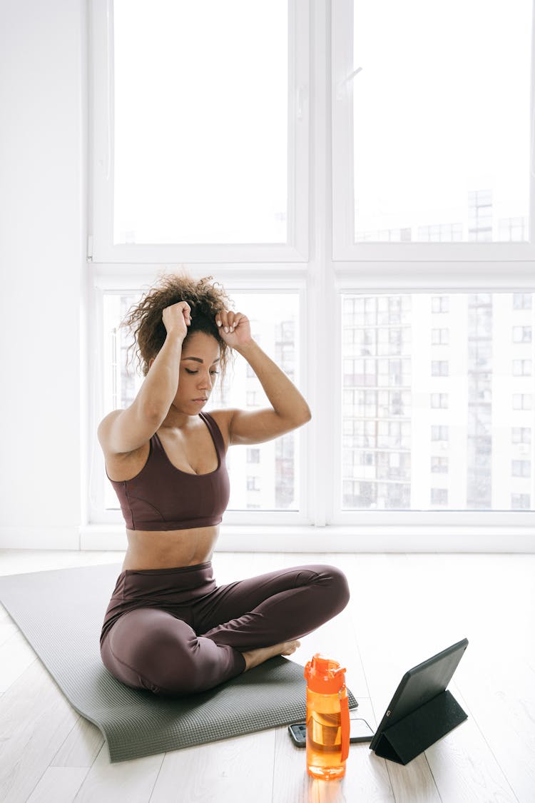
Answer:
POLYGON ((270 400, 274 411, 293 427, 302 426, 310 421, 310 407, 294 383, 262 351, 254 340, 249 343, 235 345, 234 349, 241 354, 256 373, 265 395, 270 400))

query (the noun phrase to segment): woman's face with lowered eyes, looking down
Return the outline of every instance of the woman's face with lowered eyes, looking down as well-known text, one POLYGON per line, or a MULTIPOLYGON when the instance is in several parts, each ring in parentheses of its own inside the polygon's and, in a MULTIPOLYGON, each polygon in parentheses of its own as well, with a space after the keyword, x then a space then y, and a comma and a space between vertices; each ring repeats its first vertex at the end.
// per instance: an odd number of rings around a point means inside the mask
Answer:
POLYGON ((212 393, 219 372, 219 343, 205 332, 193 332, 182 344, 178 390, 173 401, 180 412, 197 415, 212 393))

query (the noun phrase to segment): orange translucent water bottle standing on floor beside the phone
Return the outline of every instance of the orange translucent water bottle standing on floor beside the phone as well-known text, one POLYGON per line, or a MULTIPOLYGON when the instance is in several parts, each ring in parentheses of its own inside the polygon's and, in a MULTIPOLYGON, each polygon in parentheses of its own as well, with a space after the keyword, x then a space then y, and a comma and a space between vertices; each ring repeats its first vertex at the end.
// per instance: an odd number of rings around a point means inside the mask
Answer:
POLYGON ((306 771, 314 778, 342 778, 349 755, 346 670, 316 653, 305 666, 306 771))

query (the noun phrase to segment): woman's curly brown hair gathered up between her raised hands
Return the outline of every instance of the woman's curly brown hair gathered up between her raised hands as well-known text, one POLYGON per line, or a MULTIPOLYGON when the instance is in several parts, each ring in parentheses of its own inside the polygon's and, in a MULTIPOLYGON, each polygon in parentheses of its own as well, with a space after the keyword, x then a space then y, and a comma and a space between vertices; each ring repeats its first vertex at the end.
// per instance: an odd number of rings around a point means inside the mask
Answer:
POLYGON ((232 302, 221 284, 213 281, 213 276, 196 280, 186 273, 161 275, 158 282, 141 297, 138 304, 128 310, 127 316, 121 321, 120 325, 128 328, 134 337, 134 343, 128 347, 128 352, 137 346, 137 363, 146 377, 149 361, 156 357, 167 336, 162 312, 179 301, 187 301, 191 307, 191 324, 184 342, 194 332, 205 332, 215 337, 221 353, 222 380, 230 349, 219 336, 215 316, 219 310, 231 308, 232 302))

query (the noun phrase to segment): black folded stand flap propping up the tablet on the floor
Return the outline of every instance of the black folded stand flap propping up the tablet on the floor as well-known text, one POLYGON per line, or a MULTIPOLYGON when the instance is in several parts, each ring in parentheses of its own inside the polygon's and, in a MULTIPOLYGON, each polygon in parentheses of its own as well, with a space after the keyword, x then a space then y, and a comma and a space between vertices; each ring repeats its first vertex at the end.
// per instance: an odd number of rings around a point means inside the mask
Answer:
POLYGON ((428 703, 385 728, 375 747, 375 755, 408 764, 465 719, 468 714, 451 692, 441 691, 428 703))

